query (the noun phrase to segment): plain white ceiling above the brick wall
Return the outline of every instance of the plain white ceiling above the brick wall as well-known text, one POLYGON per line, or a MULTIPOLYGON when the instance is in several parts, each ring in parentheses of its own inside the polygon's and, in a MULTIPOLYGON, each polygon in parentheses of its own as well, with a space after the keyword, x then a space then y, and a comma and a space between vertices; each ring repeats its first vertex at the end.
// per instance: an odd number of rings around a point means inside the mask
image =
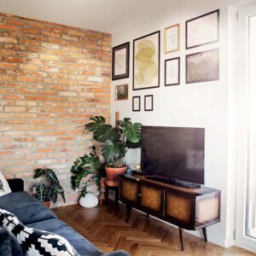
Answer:
POLYGON ((0 0, 0 12, 116 33, 174 2, 178 0, 0 0))

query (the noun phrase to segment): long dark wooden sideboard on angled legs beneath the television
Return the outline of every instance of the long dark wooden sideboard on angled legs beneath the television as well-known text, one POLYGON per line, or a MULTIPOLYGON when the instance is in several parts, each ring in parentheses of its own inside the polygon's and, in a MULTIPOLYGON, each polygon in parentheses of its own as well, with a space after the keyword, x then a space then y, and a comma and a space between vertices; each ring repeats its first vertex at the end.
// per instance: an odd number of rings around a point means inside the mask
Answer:
POLYGON ((119 177, 119 199, 127 209, 126 222, 131 208, 163 219, 178 226, 183 250, 183 229, 202 229, 207 241, 207 226, 220 221, 220 190, 201 186, 186 189, 160 183, 140 175, 119 177))

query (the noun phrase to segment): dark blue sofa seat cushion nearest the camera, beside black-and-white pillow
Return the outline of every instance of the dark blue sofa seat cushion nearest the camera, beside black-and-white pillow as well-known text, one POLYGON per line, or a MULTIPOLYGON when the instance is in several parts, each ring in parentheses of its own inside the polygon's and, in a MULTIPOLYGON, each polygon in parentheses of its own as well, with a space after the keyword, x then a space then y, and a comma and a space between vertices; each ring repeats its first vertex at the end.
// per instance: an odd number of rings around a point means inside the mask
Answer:
POLYGON ((65 237, 81 256, 102 255, 102 252, 96 246, 58 218, 46 219, 37 223, 28 224, 27 226, 33 229, 47 230, 65 237))

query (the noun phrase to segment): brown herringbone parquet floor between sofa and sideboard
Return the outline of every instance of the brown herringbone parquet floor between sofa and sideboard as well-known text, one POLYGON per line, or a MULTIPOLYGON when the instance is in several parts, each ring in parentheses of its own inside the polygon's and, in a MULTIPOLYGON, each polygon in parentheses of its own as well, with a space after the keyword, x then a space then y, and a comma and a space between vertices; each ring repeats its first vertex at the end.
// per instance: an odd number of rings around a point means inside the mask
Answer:
POLYGON ((79 205, 53 210, 64 222, 99 247, 104 253, 124 249, 132 256, 231 256, 255 255, 239 247, 224 249, 211 242, 183 232, 184 251, 180 250, 178 230, 141 212, 132 210, 129 223, 125 223, 125 207, 119 212, 104 205, 86 209, 79 205))

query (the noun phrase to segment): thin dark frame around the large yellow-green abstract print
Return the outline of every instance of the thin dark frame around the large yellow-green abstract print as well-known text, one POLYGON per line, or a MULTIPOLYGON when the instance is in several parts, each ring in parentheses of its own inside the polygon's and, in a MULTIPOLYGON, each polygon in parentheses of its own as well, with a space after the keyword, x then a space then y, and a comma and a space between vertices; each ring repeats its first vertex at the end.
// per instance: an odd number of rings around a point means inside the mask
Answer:
POLYGON ((132 58, 132 61, 133 61, 133 63, 132 63, 133 64, 132 65, 133 66, 132 67, 132 90, 144 90, 144 89, 152 89, 152 88, 160 87, 160 31, 153 32, 153 33, 150 33, 146 36, 143 36, 141 38, 136 38, 136 39, 133 40, 133 58, 132 58), (135 44, 136 44, 136 41, 141 40, 143 38, 148 38, 148 37, 150 37, 154 34, 158 34, 158 49, 157 49, 158 50, 158 59, 157 59, 157 61, 158 61, 158 63, 157 63, 157 65, 158 65, 158 79, 157 79, 157 84, 155 84, 153 86, 149 85, 148 87, 143 87, 143 88, 136 88, 135 87, 135 80, 134 80, 134 75, 135 75, 134 74, 134 72, 135 72, 135 51, 136 51, 135 44))

